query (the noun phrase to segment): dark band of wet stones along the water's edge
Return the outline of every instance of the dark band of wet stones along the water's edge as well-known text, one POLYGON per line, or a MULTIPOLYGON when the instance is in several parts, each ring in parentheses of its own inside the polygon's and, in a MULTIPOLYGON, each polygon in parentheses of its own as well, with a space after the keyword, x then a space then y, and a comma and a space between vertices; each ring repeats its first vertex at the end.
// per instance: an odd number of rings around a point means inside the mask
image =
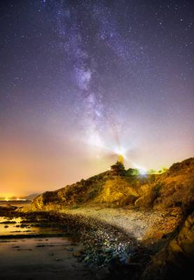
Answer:
MULTIPOLYGON (((94 271, 97 279, 109 279, 109 277, 117 277, 117 274, 122 276, 122 279, 125 279, 125 274, 129 273, 134 276, 140 275, 143 267, 151 260, 151 251, 137 241, 130 232, 91 216, 72 214, 71 209, 68 213, 64 211, 25 212, 20 209, 20 211, 9 212, 8 216, 29 219, 42 216, 48 223, 55 222, 61 227, 67 227, 65 236, 76 237, 82 244, 81 250, 74 252, 74 257, 78 262, 83 263, 84 267, 94 271)), ((31 237, 36 236, 29 235, 27 238, 31 237)), ((4 240, 14 238, 13 236, 3 237, 4 240)), ((18 235, 17 237, 17 239, 22 238, 26 236, 18 235)))

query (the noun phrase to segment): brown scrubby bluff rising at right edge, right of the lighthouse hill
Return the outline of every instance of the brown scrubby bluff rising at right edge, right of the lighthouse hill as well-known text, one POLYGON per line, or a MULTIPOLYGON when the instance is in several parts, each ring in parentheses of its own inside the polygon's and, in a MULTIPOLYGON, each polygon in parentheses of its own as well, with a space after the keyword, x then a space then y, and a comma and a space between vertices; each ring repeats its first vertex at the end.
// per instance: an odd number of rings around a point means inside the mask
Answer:
POLYGON ((164 174, 156 176, 153 183, 140 188, 137 207, 161 209, 180 209, 184 213, 194 206, 194 158, 176 163, 164 174))

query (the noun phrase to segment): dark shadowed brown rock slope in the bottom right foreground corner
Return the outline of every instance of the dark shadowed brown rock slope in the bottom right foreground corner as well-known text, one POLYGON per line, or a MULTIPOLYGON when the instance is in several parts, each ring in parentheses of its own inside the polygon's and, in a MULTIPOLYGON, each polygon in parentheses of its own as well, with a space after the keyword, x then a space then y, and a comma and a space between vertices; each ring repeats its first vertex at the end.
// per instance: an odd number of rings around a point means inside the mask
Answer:
POLYGON ((186 218, 179 233, 153 257, 141 280, 183 279, 192 275, 193 265, 194 212, 186 218))

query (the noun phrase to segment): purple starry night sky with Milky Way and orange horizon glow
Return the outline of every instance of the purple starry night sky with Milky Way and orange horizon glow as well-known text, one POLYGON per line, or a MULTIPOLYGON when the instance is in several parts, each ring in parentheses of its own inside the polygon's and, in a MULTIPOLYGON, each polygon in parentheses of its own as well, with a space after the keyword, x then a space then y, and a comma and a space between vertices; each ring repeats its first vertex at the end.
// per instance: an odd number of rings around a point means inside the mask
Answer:
POLYGON ((2 0, 0 195, 194 152, 194 3, 2 0))

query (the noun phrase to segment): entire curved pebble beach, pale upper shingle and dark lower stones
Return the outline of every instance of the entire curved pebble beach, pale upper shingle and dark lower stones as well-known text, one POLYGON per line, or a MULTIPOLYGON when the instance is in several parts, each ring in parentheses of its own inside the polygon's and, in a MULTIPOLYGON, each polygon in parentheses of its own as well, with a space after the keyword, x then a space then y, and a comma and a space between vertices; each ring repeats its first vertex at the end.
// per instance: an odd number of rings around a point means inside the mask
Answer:
POLYGON ((97 279, 127 280, 129 275, 132 280, 141 279, 155 255, 169 244, 183 219, 179 212, 170 209, 143 211, 90 205, 58 211, 32 211, 24 207, 9 213, 29 220, 41 216, 48 223, 66 228, 67 234, 82 244, 74 257, 95 272, 97 279), (143 224, 145 227, 141 228, 143 224))

